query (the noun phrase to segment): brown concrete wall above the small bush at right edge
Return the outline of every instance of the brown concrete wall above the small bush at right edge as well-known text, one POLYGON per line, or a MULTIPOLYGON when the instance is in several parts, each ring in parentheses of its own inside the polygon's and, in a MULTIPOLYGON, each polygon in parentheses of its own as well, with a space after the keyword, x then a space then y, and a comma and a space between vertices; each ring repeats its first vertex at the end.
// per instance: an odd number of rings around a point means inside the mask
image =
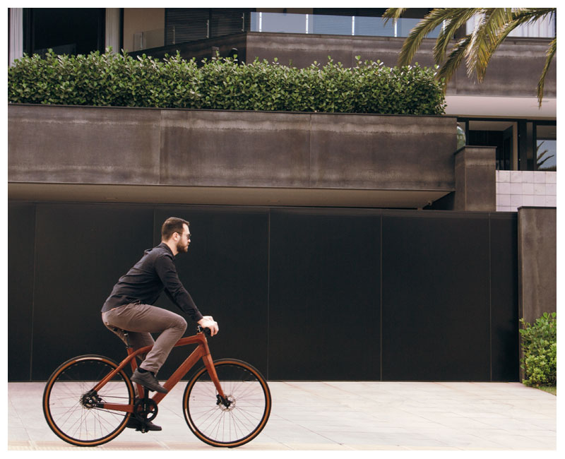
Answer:
POLYGON ((557 209, 518 209, 518 312, 533 323, 557 312, 557 209))

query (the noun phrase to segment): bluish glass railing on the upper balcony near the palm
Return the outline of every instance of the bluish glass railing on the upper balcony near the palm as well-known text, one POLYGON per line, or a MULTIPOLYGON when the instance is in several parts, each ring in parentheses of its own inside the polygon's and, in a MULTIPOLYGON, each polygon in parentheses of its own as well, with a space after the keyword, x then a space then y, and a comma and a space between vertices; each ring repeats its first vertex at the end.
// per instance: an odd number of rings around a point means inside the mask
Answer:
MULTIPOLYGON (((367 16, 331 16, 326 14, 251 13, 251 32, 309 33, 323 35, 360 35, 365 37, 408 37, 420 19, 385 20, 367 16)), ((436 38, 440 28, 429 33, 436 38)))

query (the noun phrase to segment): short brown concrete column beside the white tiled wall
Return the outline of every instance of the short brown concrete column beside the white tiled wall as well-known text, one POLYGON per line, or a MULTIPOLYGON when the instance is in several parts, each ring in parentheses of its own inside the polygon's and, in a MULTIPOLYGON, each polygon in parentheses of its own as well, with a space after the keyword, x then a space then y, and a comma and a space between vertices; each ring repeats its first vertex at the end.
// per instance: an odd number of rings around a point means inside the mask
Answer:
POLYGON ((455 157, 453 210, 496 210, 496 148, 465 146, 455 157))

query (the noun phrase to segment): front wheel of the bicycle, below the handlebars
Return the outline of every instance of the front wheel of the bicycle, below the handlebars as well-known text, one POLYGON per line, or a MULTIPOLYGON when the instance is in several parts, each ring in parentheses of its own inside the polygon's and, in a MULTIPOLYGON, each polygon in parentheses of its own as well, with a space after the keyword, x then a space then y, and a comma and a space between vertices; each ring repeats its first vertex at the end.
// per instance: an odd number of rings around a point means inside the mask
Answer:
POLYGON ((271 406, 267 382, 254 366, 240 360, 221 359, 214 366, 230 406, 218 402, 218 391, 204 367, 184 390, 184 419, 198 439, 209 445, 241 446, 267 423, 271 406))

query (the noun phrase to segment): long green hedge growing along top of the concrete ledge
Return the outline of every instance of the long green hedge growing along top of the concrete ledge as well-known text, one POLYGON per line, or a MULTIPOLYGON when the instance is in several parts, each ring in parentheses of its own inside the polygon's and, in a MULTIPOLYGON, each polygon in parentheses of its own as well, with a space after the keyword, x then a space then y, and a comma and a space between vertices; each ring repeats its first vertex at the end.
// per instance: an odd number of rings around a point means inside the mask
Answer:
POLYGON ((148 56, 93 52, 25 55, 8 68, 8 102, 23 104, 443 114, 442 83, 433 68, 390 68, 361 61, 345 68, 283 66, 256 59, 210 59, 198 65, 177 52, 148 56))

